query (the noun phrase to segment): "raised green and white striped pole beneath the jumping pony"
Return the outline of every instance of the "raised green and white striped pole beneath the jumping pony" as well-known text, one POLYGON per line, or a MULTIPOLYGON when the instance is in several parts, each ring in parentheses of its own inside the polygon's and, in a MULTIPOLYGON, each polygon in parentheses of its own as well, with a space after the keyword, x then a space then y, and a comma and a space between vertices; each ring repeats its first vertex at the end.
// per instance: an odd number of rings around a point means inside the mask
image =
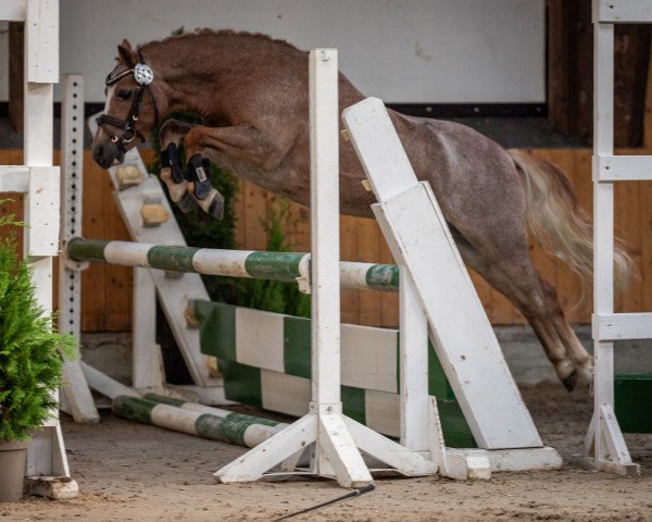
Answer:
MULTIPOLYGON (((66 244, 73 261, 145 266, 228 277, 273 281, 310 281, 310 253, 256 252, 183 246, 108 241, 74 237, 66 244)), ((340 262, 341 285, 386 291, 399 290, 399 268, 393 264, 340 262)))

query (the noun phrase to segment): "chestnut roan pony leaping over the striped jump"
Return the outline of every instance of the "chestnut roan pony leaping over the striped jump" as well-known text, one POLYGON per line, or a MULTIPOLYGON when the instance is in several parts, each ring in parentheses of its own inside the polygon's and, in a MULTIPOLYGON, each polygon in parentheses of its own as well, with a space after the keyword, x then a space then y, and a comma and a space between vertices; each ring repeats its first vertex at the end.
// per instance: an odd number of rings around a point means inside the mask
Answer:
MULTIPOLYGON (((205 29, 137 50, 124 40, 117 50, 117 65, 106 79, 105 116, 92 142, 101 166, 122 163, 134 138, 147 136, 170 113, 190 111, 201 116, 202 125, 170 120, 160 133, 161 150, 170 152, 161 177, 173 199, 187 207, 189 189, 204 210, 220 214, 220 196, 202 183, 202 157, 208 157, 265 189, 309 204, 306 52, 263 35, 205 29), (146 65, 145 74, 139 63, 146 65), (176 145, 181 142, 187 158, 195 160, 195 182, 188 184, 173 179, 176 145)), ((363 98, 340 74, 340 110, 363 98)), ((592 358, 564 318, 555 290, 532 265, 527 239, 529 228, 573 270, 591 276, 591 225, 567 177, 553 164, 504 150, 464 125, 389 112, 417 177, 430 183, 465 262, 527 318, 568 390, 590 383, 592 358)), ((374 199, 363 178, 352 146, 342 141, 343 213, 372 216, 374 199)), ((618 250, 614 261, 616 278, 625 278, 629 258, 618 250)))

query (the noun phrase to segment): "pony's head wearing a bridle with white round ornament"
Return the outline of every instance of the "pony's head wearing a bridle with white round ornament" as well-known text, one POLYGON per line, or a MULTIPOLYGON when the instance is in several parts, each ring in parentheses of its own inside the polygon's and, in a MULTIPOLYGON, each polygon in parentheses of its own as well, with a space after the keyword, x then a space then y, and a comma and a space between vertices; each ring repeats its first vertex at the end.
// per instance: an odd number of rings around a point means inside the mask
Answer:
POLYGON ((103 169, 121 164, 127 150, 145 141, 158 123, 156 103, 148 89, 154 80, 152 70, 127 40, 117 46, 117 63, 104 82, 106 103, 91 145, 92 157, 103 169))

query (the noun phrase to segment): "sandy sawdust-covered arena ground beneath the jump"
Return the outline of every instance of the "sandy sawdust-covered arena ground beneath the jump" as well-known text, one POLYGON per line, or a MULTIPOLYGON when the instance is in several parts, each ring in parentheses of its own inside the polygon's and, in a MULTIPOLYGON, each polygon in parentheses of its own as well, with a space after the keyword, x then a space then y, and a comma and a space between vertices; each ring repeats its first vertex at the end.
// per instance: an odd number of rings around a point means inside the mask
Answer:
MULTIPOLYGON (((564 459, 581 447, 590 397, 557 383, 523 388, 546 444, 564 459)), ((641 412, 644 414, 644 412, 641 412)), ((649 412, 648 412, 649 413, 649 412)), ((500 415, 500 412, 497 412, 500 415)), ((291 478, 221 485, 213 472, 242 448, 104 413, 96 425, 62 419, 80 495, 0 505, 4 521, 271 521, 344 493, 330 481, 291 478)), ((652 521, 652 435, 626 435, 642 475, 625 478, 565 463, 561 471, 496 473, 490 482, 381 478, 376 489, 297 521, 652 521)))

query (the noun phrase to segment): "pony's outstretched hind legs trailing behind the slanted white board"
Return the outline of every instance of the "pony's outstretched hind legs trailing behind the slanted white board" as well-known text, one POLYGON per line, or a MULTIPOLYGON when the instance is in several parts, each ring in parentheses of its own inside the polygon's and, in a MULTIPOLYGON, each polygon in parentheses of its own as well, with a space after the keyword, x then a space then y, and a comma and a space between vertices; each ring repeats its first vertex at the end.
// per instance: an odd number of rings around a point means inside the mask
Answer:
MULTIPOLYGON (((459 234, 456 234, 459 236, 459 234)), ((531 263, 527 241, 502 259, 487 259, 465 238, 456 237, 464 260, 525 315, 566 389, 589 385, 593 361, 564 316, 554 288, 531 263)), ((512 247, 514 243, 511 243, 512 247)))

